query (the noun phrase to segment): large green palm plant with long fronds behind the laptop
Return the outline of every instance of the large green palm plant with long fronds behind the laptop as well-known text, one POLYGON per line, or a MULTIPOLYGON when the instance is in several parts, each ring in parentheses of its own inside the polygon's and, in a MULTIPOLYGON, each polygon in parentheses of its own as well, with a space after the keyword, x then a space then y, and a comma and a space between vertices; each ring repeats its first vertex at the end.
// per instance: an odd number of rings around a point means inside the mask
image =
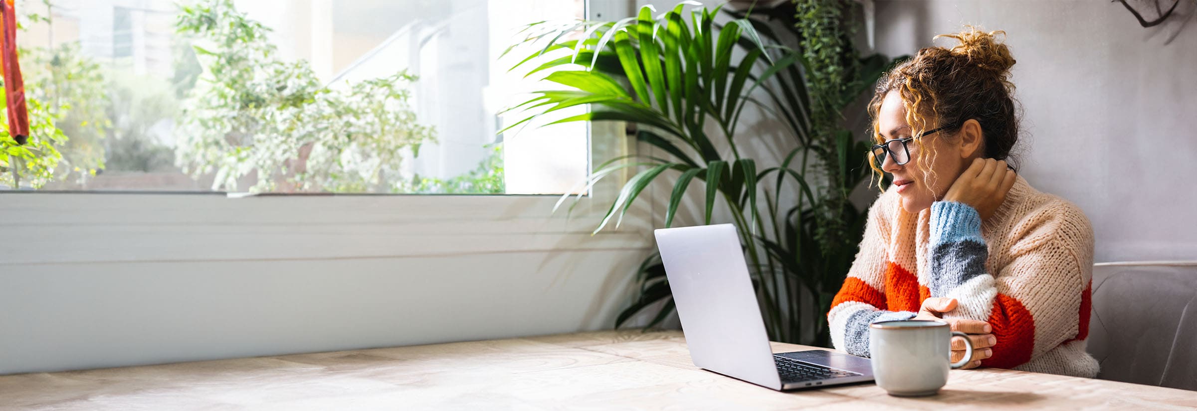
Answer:
MULTIPOLYGON (((636 17, 618 22, 537 23, 525 27, 528 35, 521 43, 542 47, 514 69, 525 69, 529 75, 551 70, 543 80, 569 90, 534 92, 530 99, 511 109, 527 116, 508 129, 581 105, 589 105, 589 112, 548 123, 636 124, 636 137, 664 155, 625 155, 594 168, 585 182, 588 186, 619 171, 637 171, 622 185, 595 232, 612 222, 618 227, 628 205, 658 179, 669 179, 673 186, 664 216, 664 226, 669 227, 687 188, 703 184, 704 222, 712 222, 716 202, 730 210, 752 265, 771 338, 810 343, 802 332, 803 315, 808 312, 802 309, 802 296, 804 293, 818 296, 822 286, 812 281, 816 280, 809 271, 813 263, 807 260, 820 258, 820 247, 812 244, 818 241, 820 227, 827 226, 824 220, 844 215, 831 215, 822 209, 828 190, 808 182, 807 170, 830 158, 821 153, 836 154, 832 167, 852 168, 863 164, 867 149, 863 142, 853 142, 847 131, 837 130, 826 139, 816 135, 821 129, 810 123, 812 108, 822 103, 820 96, 810 96, 807 90, 806 73, 812 70, 802 50, 782 45, 760 20, 739 16, 717 25, 718 7, 687 11, 687 5, 697 4, 682 2, 660 14, 645 6, 636 17), (773 116, 795 139, 797 148, 779 165, 760 168, 741 149, 751 139, 739 133, 746 106, 760 108, 773 116), (779 198, 786 198, 782 196, 784 190, 792 190, 789 195, 796 195, 796 204, 780 204, 779 198)), ((876 63, 877 59, 864 61, 883 66, 876 63)), ((858 170, 851 176, 844 173, 837 176, 841 178, 819 182, 834 182, 837 189, 832 191, 841 192, 839 186, 858 184, 858 176, 867 172, 858 170)), ((558 207, 567 197, 563 196, 558 207)), ((853 243, 853 254, 855 246, 853 243)), ((846 269, 838 274, 840 280, 845 272, 846 269)), ((637 281, 639 299, 619 315, 616 326, 655 302, 664 305, 649 326, 673 311, 657 256, 640 265, 637 281)))

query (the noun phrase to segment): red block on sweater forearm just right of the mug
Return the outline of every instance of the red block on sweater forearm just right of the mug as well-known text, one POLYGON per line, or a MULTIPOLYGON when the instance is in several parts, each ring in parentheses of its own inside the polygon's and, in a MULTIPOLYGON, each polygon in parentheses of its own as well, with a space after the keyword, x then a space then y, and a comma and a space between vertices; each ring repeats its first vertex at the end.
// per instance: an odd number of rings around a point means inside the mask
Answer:
POLYGON ((1035 346, 1035 320, 1021 301, 998 294, 994 299, 989 325, 994 326, 997 343, 994 344, 994 356, 982 360, 982 366, 1014 368, 1031 361, 1031 351, 1035 346))

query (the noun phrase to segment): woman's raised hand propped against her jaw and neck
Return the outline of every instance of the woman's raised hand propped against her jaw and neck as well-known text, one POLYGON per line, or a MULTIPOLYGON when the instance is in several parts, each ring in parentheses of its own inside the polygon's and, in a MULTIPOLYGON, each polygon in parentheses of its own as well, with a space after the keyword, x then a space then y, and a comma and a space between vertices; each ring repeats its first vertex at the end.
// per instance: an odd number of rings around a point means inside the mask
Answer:
POLYGON ((1015 179, 1017 173, 1007 168, 1005 161, 978 158, 956 177, 943 201, 968 204, 985 221, 1005 201, 1005 194, 1014 186, 1015 179))

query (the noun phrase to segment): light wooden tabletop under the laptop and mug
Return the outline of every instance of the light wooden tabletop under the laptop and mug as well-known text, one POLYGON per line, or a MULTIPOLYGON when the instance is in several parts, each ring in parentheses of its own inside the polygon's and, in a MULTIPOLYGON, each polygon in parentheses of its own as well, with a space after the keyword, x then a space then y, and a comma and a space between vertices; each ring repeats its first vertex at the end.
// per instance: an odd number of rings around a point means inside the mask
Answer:
MULTIPOLYGON (((808 349, 774 343, 774 351, 808 349)), ((1004 369, 935 397, 782 393, 695 368, 680 332, 604 331, 0 376, 0 410, 1185 410, 1197 392, 1004 369)))

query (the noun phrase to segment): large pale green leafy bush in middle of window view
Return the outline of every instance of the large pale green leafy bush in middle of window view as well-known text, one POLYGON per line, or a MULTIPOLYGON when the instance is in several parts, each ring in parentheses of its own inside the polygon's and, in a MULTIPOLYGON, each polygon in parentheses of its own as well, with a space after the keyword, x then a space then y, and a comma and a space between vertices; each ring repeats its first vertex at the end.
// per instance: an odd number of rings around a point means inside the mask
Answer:
POLYGON ((436 131, 417 122, 406 70, 347 87, 321 84, 306 61, 285 62, 269 27, 231 0, 183 6, 203 73, 183 103, 176 161, 215 173, 213 190, 399 191, 403 153, 436 131))

